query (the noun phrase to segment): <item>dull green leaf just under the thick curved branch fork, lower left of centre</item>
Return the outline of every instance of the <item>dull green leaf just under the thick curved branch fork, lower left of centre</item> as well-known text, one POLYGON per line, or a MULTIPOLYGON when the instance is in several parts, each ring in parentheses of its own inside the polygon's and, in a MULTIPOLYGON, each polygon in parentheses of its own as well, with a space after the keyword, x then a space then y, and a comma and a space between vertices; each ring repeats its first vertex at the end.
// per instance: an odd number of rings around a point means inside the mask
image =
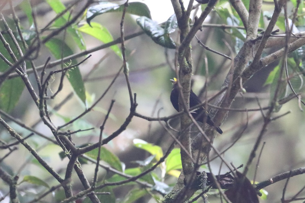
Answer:
MULTIPOLYGON (((93 149, 90 152, 86 152, 85 155, 91 157, 92 159, 97 159, 99 149, 93 149)), ((106 163, 109 163, 109 165, 119 171, 122 170, 122 164, 120 162, 120 159, 114 155, 112 152, 110 152, 108 149, 105 147, 101 147, 101 153, 100 153, 100 158, 101 160, 105 161, 106 163)))

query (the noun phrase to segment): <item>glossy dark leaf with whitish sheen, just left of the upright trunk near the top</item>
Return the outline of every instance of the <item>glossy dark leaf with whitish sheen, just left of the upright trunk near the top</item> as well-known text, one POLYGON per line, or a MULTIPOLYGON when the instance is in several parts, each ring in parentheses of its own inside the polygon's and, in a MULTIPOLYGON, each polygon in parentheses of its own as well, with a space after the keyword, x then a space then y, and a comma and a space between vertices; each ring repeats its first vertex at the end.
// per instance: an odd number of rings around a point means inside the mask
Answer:
POLYGON ((166 31, 169 31, 170 29, 173 29, 174 23, 172 23, 172 18, 170 17, 167 22, 171 28, 166 28, 167 30, 164 30, 160 25, 155 23, 152 19, 149 19, 145 16, 142 16, 140 18, 136 19, 138 25, 144 30, 144 32, 152 38, 154 42, 157 44, 167 47, 170 49, 175 49, 176 44, 174 40, 170 37, 169 33, 166 31))

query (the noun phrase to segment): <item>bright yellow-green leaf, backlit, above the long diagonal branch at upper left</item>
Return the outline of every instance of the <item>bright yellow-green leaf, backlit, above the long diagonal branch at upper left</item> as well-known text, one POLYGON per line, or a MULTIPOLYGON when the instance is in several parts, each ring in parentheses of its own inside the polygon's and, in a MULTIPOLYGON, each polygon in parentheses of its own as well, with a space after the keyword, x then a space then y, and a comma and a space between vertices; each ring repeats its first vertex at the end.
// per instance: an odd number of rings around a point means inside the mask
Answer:
MULTIPOLYGON (((91 26, 89 24, 84 24, 83 26, 78 28, 78 30, 95 37, 96 39, 102 41, 105 44, 113 41, 113 37, 109 33, 107 28, 99 23, 92 22, 91 26)), ((116 53, 120 58, 122 58, 122 52, 117 44, 112 45, 110 48, 114 51, 114 53, 116 53)))

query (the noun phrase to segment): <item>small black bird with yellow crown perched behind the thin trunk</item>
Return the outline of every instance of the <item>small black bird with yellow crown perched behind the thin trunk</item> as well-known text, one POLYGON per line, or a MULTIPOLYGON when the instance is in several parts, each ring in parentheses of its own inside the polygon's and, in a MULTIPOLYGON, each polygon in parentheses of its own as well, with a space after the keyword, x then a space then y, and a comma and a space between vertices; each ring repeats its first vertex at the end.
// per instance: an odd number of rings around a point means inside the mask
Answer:
MULTIPOLYGON (((179 112, 179 104, 178 104, 179 87, 178 87, 178 83, 177 83, 177 78, 170 79, 170 81, 173 83, 173 89, 170 93, 170 102, 172 103, 173 107, 179 112)), ((192 108, 200 103, 202 103, 202 102, 200 101, 199 97, 191 89, 190 98, 189 98, 190 108, 192 108)), ((203 123, 203 120, 205 119, 204 117, 207 115, 206 123, 209 124, 210 126, 214 127, 218 133, 222 134, 222 130, 218 126, 215 125, 215 123, 212 121, 209 113, 203 107, 199 107, 199 109, 197 109, 191 113, 192 113, 193 117, 195 118, 195 120, 199 121, 201 123, 203 123), (196 116, 196 115, 198 115, 198 116, 196 116)))

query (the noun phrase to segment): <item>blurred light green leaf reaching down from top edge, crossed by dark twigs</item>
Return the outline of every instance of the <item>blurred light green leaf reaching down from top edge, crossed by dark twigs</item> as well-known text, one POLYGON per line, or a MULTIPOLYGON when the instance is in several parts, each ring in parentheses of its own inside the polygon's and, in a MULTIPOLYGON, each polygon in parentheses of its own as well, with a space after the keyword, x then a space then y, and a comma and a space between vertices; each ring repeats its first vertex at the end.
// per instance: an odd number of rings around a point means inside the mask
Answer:
MULTIPOLYGON (((63 12, 66 9, 65 5, 63 5, 63 3, 60 2, 59 0, 46 0, 46 1, 56 13, 63 12)), ((56 19, 53 26, 61 27, 67 23, 69 18, 71 19, 70 12, 66 12, 65 14, 63 14, 62 17, 56 19)), ((84 44, 84 39, 77 31, 77 25, 72 25, 67 27, 67 35, 68 35, 67 37, 69 37, 69 35, 72 37, 72 39, 75 41, 75 43, 81 50, 86 49, 86 46, 84 44)))

